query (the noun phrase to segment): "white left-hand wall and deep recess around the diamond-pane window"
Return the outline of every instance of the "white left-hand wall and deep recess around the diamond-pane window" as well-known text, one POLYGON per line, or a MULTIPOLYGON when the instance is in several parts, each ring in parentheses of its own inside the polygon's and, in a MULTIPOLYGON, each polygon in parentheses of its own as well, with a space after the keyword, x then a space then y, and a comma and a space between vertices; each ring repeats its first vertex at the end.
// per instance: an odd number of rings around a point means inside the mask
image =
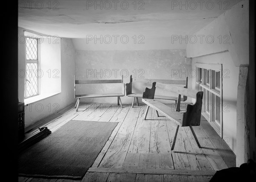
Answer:
MULTIPOLYGON (((24 29, 19 27, 20 35, 23 33, 23 30, 24 29)), ((59 90, 61 92, 25 106, 25 131, 29 126, 32 126, 36 122, 43 120, 45 117, 54 114, 56 111, 61 110, 75 101, 73 81, 73 75, 75 75, 75 49, 73 42, 71 39, 61 38, 60 44, 49 44, 49 47, 52 47, 52 49, 45 49, 45 52, 43 52, 44 55, 41 56, 44 58, 44 61, 50 61, 47 65, 53 65, 52 68, 54 68, 54 65, 61 66, 61 72, 59 73, 61 81, 56 83, 61 85, 61 90, 59 90), (60 60, 59 63, 56 59, 60 60), (57 63, 54 64, 54 61, 57 63)), ((18 48, 19 70, 25 69, 25 44, 19 42, 18 48)), ((43 69, 44 74, 48 77, 48 73, 45 72, 47 70, 48 68, 46 68, 46 70, 43 69)), ((19 77, 18 84, 19 101, 24 101, 24 78, 19 77)), ((43 90, 47 90, 49 87, 51 87, 51 85, 47 85, 46 83, 43 90)))

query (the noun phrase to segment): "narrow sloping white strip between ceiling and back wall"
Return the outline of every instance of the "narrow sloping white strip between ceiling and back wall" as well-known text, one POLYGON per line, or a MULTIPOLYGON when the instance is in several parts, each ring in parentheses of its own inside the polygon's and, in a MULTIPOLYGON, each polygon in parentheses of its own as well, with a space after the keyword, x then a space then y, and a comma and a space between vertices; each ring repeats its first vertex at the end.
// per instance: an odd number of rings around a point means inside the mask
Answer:
MULTIPOLYGON (((135 28, 134 28, 135 29, 135 28)), ((114 34, 113 34, 114 35, 114 34)), ((111 50, 161 50, 186 49, 186 41, 172 40, 170 37, 150 37, 141 35, 95 35, 96 37, 73 38, 76 50, 111 51, 111 50), (110 38, 109 38, 110 37, 110 38)), ((156 32, 157 35, 157 32, 156 32)))

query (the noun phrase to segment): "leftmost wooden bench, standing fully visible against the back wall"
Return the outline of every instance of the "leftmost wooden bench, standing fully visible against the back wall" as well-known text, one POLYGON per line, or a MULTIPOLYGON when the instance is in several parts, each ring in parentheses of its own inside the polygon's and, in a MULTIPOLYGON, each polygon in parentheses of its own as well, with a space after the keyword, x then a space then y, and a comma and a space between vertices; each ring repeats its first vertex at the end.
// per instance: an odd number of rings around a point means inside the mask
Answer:
POLYGON ((77 98, 75 108, 78 111, 80 98, 99 98, 99 97, 117 97, 117 104, 121 105, 122 101, 120 97, 125 95, 125 84, 123 84, 123 78, 121 80, 76 80, 74 77, 74 93, 75 98, 77 98), (120 93, 96 93, 96 94, 76 94, 76 84, 121 84, 121 89, 123 92, 120 93))

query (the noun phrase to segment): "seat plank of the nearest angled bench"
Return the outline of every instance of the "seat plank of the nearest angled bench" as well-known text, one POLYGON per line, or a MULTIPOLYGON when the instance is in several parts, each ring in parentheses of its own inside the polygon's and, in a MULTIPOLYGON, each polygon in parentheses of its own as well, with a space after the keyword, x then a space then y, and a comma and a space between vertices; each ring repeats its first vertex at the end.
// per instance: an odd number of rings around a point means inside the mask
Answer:
POLYGON ((171 121, 174 121, 178 125, 182 125, 183 113, 176 112, 175 109, 172 111, 171 107, 168 107, 165 104, 154 99, 143 98, 142 101, 148 106, 152 107, 154 110, 157 110, 159 113, 162 113, 171 121))

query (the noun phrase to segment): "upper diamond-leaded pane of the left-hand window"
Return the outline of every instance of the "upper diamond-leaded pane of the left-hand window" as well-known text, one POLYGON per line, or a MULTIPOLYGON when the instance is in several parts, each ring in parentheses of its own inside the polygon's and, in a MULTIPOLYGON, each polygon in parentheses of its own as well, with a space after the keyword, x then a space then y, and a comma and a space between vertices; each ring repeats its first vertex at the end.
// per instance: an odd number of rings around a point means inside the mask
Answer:
POLYGON ((38 59, 38 40, 35 38, 26 38, 26 60, 38 59))

